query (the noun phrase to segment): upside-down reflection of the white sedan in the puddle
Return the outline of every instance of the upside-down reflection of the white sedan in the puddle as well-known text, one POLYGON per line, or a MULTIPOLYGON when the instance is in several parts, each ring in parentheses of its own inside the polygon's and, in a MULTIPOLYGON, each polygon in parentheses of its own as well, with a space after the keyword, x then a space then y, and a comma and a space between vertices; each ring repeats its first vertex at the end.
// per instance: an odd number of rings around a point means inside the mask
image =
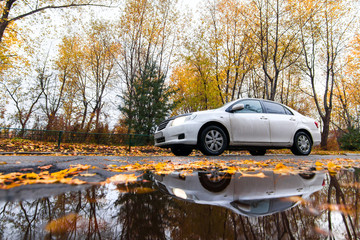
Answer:
POLYGON ((159 188, 177 198, 198 204, 216 205, 247 216, 264 216, 297 205, 288 197, 309 198, 325 184, 325 173, 281 175, 271 171, 230 175, 195 172, 155 175, 159 188))

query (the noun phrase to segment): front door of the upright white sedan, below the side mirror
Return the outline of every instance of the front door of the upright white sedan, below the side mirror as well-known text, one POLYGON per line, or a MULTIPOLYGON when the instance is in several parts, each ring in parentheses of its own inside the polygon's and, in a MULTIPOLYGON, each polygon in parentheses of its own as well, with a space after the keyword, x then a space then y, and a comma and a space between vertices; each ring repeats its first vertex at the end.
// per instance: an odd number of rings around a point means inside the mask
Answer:
POLYGON ((259 100, 242 100, 244 109, 230 113, 231 135, 234 145, 270 144, 269 121, 259 100))

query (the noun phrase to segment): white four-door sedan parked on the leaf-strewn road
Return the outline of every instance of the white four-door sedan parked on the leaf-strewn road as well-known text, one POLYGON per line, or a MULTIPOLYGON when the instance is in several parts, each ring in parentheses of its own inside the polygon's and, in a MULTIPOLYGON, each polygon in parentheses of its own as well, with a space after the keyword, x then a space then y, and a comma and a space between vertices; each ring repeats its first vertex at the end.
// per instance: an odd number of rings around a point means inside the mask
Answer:
POLYGON ((290 148, 308 155, 320 144, 319 124, 295 110, 264 99, 240 99, 208 111, 169 118, 155 132, 155 146, 176 156, 193 149, 220 155, 226 149, 246 149, 264 155, 267 149, 290 148))

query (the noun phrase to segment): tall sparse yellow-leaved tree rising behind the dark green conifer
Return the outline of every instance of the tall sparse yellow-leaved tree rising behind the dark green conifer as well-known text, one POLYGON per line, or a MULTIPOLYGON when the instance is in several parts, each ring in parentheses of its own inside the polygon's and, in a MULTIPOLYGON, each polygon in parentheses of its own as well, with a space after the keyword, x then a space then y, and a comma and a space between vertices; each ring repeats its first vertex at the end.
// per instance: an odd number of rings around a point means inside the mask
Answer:
MULTIPOLYGON (((150 79, 168 75, 176 37, 176 1, 128 0, 119 22, 118 43, 121 53, 117 58, 119 76, 126 96, 128 133, 135 126, 136 85, 145 70, 155 64, 157 73, 150 79)), ((153 74, 153 73, 152 73, 153 74)), ((151 99, 152 100, 152 99, 151 99)))

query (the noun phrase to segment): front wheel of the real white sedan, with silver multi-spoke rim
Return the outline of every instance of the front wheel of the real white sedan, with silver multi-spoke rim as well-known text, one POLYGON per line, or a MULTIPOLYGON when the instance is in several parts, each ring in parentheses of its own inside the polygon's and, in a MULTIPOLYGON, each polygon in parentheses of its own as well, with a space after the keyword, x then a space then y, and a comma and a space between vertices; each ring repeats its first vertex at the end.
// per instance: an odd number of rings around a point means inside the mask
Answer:
POLYGON ((218 126, 208 126, 200 134, 199 149, 204 155, 218 156, 227 148, 228 139, 218 126))

